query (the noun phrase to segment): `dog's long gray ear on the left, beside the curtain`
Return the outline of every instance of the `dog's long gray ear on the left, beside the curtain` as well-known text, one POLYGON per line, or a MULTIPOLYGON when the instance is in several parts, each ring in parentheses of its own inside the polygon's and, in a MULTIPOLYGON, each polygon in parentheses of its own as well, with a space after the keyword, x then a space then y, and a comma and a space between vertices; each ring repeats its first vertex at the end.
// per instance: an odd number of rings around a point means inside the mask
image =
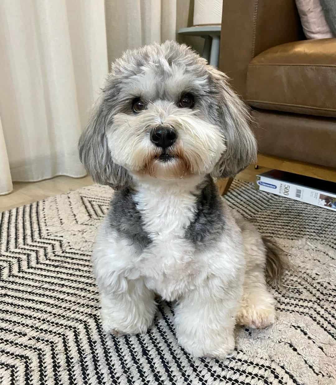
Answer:
POLYGON ((79 139, 79 157, 95 182, 123 189, 130 185, 131 176, 113 162, 106 138, 106 130, 113 120, 113 109, 109 107, 112 99, 113 95, 106 95, 103 90, 79 139))

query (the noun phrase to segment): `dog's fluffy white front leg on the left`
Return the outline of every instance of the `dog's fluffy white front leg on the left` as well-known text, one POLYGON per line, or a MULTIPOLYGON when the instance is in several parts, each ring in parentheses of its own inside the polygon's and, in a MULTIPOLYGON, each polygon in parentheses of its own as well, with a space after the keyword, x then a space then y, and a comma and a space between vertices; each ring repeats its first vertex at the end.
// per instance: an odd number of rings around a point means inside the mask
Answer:
POLYGON ((154 293, 143 279, 124 281, 123 291, 100 288, 103 330, 115 335, 146 333, 156 311, 154 293))

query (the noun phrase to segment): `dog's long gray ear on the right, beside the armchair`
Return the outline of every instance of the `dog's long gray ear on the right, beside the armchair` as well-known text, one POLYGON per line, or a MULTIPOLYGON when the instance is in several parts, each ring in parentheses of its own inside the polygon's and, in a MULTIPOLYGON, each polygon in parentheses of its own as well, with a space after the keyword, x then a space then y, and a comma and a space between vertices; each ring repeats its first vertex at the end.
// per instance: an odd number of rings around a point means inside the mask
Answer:
POLYGON ((223 130, 226 146, 212 175, 223 178, 238 174, 256 161, 257 144, 248 109, 228 85, 228 77, 216 69, 211 70, 211 75, 217 94, 216 124, 223 130))

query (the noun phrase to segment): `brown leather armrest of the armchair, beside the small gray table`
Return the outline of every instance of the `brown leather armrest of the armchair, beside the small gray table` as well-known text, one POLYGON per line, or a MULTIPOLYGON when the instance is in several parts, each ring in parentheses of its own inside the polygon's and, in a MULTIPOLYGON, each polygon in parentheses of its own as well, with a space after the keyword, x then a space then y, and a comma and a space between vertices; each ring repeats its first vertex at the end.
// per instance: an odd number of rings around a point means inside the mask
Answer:
POLYGON ((304 40, 295 0, 224 0, 219 69, 245 99, 248 64, 275 45, 304 40))

